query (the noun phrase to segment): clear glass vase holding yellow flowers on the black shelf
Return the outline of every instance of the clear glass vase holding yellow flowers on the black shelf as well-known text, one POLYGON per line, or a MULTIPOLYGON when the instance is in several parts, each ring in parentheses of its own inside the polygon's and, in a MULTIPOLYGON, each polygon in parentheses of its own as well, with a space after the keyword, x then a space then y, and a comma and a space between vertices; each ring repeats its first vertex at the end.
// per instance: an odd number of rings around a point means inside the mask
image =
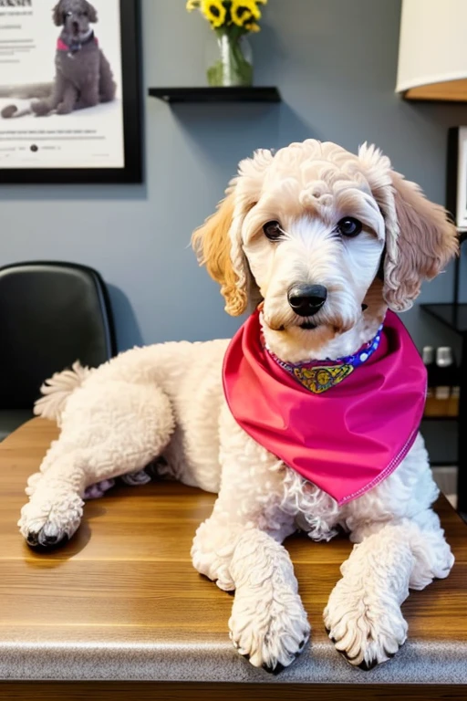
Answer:
POLYGON ((253 85, 253 52, 246 37, 217 32, 217 46, 207 53, 208 85, 232 88, 253 85))

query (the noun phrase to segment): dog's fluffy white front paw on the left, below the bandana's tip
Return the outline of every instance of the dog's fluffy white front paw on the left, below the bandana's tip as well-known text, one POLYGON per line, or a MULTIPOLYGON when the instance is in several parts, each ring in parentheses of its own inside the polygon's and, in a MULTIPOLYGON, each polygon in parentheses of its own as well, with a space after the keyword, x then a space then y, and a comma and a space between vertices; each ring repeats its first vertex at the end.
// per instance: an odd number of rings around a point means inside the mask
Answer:
POLYGON ((302 652, 310 625, 298 594, 240 588, 235 593, 229 621, 233 646, 255 667, 277 674, 302 652))

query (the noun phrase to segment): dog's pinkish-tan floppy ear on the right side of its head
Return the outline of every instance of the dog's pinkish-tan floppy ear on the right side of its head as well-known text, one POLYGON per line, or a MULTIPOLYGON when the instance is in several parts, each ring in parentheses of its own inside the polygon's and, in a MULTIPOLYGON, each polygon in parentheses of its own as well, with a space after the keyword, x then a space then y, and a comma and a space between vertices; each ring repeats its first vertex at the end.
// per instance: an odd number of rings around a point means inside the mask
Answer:
POLYGON ((458 251, 458 235, 444 207, 405 180, 373 146, 358 153, 386 224, 383 295, 390 309, 405 311, 423 280, 436 277, 458 251))

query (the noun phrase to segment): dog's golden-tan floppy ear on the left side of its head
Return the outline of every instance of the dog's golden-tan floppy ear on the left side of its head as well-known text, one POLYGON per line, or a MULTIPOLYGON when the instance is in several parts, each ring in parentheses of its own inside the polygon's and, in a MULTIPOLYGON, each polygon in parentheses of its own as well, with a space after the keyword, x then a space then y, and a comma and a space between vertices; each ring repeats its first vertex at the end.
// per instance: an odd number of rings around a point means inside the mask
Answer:
POLYGON ((239 174, 229 184, 217 212, 192 235, 200 264, 221 285, 225 311, 234 317, 243 314, 249 302, 260 300, 244 256, 242 225, 259 199, 264 173, 272 159, 270 151, 260 150, 253 159, 241 162, 239 174))

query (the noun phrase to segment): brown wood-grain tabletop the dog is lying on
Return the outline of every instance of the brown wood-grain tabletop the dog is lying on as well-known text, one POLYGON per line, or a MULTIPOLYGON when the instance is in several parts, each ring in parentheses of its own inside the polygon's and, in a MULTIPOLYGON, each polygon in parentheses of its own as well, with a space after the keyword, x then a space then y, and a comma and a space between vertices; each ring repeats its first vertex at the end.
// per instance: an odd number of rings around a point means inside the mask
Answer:
MULTIPOLYGON (((213 507, 213 495, 173 483, 144 487, 116 487, 106 497, 89 502, 78 534, 63 549, 38 554, 26 546, 16 527, 26 497, 27 476, 35 472, 57 428, 35 419, 0 445, 0 644, 31 633, 50 643, 167 643, 227 642, 227 621, 232 598, 192 568, 190 549, 195 529, 213 507)), ((435 581, 425 591, 411 592, 403 605, 410 638, 420 643, 467 641, 467 528, 441 497, 437 510, 456 557, 448 580, 435 581)), ((339 566, 348 557, 347 539, 310 543, 304 536, 288 539, 300 592, 313 625, 315 643, 328 644, 322 612, 329 592, 339 578, 339 566)), ((243 664, 243 661, 241 661, 243 664)), ((246 663, 245 663, 246 664, 246 663)), ((467 664, 467 661, 466 661, 467 664)), ((138 698, 176 698, 183 685, 138 684, 138 698), (151 691, 152 690, 152 691, 151 691), (161 696, 166 694, 168 696, 161 696)), ((248 698, 250 685, 240 695, 248 698)), ((294 685, 295 686, 295 685, 294 685)), ((209 685, 190 685, 194 698, 218 698, 209 685)), ((256 698, 282 697, 292 685, 251 685, 256 698), (277 696, 278 695, 278 696, 277 696)), ((0 698, 7 699, 112 699, 125 696, 126 684, 33 685, 5 683, 0 698), (67 693, 64 689, 67 687, 67 693), (28 696, 33 694, 34 696, 28 696), (62 696, 60 696, 62 694, 62 696)), ((223 685, 222 697, 234 698, 233 685, 223 685)), ((294 697, 348 698, 345 685, 301 686, 294 697), (338 691, 338 695, 337 695, 338 691), (339 696, 340 695, 340 696, 339 696)), ((357 687, 351 687, 355 692, 357 687)), ((443 687, 409 687, 401 696, 381 687, 377 696, 364 696, 369 685, 358 686, 361 698, 441 698, 443 687), (432 696, 432 694, 441 696, 432 696), (386 696, 385 696, 386 695, 386 696)), ((181 693, 182 693, 181 691, 181 693)), ((374 689, 376 694, 376 687, 374 689)), ((452 698, 459 689, 449 687, 452 698)), ((459 692, 461 693, 461 692, 459 692)), ((252 696, 252 697, 253 697, 252 696)), ((288 692, 287 692, 288 696, 288 692)))

